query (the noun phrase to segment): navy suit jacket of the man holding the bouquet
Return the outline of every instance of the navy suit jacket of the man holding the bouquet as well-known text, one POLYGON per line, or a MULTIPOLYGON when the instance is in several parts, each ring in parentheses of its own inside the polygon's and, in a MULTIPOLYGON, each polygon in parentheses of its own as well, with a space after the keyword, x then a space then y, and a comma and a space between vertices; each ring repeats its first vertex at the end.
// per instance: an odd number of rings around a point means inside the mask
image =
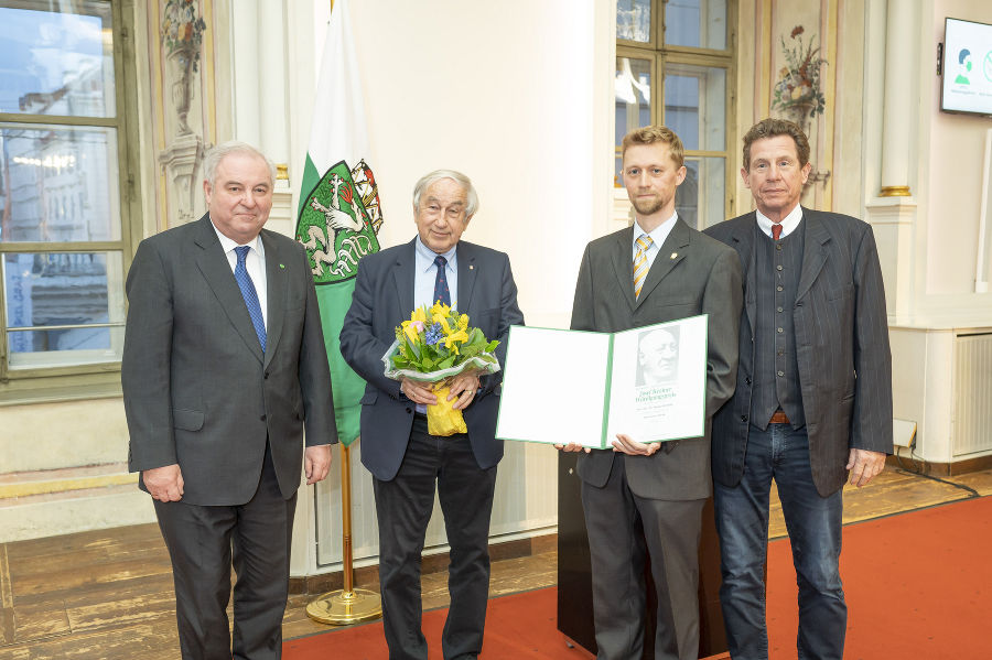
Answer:
MULTIPOLYGON (((416 240, 416 239, 414 239, 416 240)), ((509 258, 467 241, 459 241, 460 312, 488 339, 498 339, 496 357, 505 364, 509 326, 521 325, 517 285, 509 258)), ((352 306, 341 329, 341 354, 367 381, 362 398, 362 463, 388 482, 399 472, 413 425, 414 404, 400 394, 400 383, 382 375, 382 355, 396 339, 396 327, 413 311, 413 241, 395 246, 358 262, 352 306)), ((503 458, 496 440, 496 413, 503 372, 483 377, 482 391, 463 411, 475 461, 483 469, 503 458)))

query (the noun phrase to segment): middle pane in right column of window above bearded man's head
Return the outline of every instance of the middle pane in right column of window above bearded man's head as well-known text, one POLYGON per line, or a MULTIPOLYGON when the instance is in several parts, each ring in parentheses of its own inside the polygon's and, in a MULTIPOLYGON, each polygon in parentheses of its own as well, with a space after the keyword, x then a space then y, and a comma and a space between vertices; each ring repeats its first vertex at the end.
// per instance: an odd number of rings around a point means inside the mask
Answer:
POLYGON ((726 149, 726 69, 666 63, 665 125, 688 150, 726 149))

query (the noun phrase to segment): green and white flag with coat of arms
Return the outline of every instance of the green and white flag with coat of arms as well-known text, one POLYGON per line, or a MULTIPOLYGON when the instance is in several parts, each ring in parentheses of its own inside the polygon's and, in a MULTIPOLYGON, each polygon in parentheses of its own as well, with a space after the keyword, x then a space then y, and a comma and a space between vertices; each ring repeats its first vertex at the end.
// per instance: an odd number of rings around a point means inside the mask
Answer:
POLYGON ((306 248, 331 364, 338 439, 358 437, 365 381, 341 356, 341 326, 352 304, 358 261, 379 251, 379 191, 368 158, 362 80, 349 31, 348 0, 331 12, 303 167, 296 240, 306 248))

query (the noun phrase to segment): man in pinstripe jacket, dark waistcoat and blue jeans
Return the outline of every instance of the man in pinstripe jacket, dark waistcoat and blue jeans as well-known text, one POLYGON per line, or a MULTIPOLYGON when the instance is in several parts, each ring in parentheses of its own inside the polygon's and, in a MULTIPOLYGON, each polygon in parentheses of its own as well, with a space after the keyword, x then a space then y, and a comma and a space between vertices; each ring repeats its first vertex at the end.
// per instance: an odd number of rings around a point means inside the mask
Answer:
POLYGON ((756 212, 707 230, 744 271, 737 387, 713 421, 723 608, 734 660, 768 657, 763 565, 772 479, 799 585, 799 658, 840 660, 841 489, 892 453, 892 356, 871 227, 799 205, 809 142, 765 119, 744 136, 756 212))

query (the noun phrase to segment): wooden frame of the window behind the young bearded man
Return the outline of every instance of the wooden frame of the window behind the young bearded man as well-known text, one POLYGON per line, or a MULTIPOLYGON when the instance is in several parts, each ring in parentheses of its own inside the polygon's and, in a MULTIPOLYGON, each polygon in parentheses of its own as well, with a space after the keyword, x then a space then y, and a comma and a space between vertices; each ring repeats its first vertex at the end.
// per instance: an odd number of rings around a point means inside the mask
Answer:
MULTIPOLYGON (((650 62, 651 71, 651 121, 665 125, 665 85, 666 64, 688 64, 693 66, 723 68, 725 76, 725 104, 724 118, 724 149, 721 151, 693 149, 686 150, 689 158, 722 158, 724 159, 724 218, 733 214, 736 195, 736 172, 734 172, 734 147, 736 145, 736 42, 737 42, 737 0, 726 0, 726 47, 699 48, 693 46, 676 46, 665 44, 665 0, 651 0, 650 41, 637 42, 625 39, 616 40, 616 58, 628 57, 646 59, 650 62)), ((621 156, 622 145, 615 145, 615 159, 621 156)), ((614 160, 615 160, 614 159, 614 160)), ((615 187, 623 188, 622 182, 615 182, 615 187)), ((705 221, 699 215, 697 221, 705 221)), ((702 229, 703 227, 696 227, 702 229)))

